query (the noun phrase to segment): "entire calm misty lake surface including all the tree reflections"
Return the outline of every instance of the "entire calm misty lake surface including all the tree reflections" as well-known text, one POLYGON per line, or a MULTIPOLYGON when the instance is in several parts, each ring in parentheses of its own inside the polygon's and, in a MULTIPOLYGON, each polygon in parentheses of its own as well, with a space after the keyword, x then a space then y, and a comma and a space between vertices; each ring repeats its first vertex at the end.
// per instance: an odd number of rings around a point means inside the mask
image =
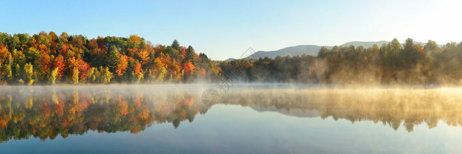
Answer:
POLYGON ((462 88, 3 86, 0 153, 460 153, 462 88))

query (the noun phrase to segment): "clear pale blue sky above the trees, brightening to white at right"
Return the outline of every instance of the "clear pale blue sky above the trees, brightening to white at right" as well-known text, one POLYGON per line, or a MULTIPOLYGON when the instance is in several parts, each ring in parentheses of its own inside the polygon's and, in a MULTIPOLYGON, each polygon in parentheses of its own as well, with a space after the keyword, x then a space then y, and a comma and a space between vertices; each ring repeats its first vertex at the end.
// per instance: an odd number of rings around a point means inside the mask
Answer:
POLYGON ((0 32, 137 34, 212 60, 350 41, 462 41, 460 1, 2 1, 0 32))

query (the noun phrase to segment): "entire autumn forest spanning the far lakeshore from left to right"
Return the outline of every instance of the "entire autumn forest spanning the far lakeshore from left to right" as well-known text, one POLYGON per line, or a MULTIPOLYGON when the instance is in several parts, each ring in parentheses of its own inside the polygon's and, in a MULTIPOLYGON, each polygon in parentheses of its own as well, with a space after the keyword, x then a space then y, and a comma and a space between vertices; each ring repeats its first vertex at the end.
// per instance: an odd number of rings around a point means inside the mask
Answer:
MULTIPOLYGON (((192 46, 153 45, 138 35, 87 38, 0 33, 2 84, 212 83, 245 68, 241 82, 327 84, 462 83, 462 44, 394 40, 369 48, 321 48, 317 56, 212 61, 192 46)), ((234 80, 233 82, 236 82, 234 80)))

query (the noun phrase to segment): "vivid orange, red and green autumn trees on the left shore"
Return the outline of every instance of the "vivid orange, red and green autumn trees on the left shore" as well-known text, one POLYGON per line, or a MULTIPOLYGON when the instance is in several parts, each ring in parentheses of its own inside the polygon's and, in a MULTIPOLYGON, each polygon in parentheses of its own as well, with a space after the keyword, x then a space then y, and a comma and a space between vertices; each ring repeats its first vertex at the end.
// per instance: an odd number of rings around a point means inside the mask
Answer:
POLYGON ((175 83, 211 80, 219 72, 207 55, 176 40, 165 46, 138 35, 0 33, 2 84, 175 83))

